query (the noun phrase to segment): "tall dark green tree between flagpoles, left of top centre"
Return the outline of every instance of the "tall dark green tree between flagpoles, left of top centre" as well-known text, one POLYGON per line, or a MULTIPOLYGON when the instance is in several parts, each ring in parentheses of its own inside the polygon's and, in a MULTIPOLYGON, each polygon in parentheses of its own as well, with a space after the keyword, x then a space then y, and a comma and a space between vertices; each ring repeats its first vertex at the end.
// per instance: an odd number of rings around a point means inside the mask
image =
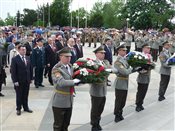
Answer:
POLYGON ((69 4, 70 0, 54 0, 50 8, 52 25, 69 25, 69 4))

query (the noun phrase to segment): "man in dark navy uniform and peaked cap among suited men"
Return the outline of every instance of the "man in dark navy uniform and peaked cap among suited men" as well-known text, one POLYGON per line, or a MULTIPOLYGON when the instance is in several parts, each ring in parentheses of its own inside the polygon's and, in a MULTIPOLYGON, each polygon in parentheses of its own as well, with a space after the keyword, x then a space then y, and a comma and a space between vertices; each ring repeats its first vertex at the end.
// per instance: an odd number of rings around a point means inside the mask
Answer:
POLYGON ((39 38, 36 43, 37 47, 32 51, 32 64, 35 71, 35 87, 38 88, 39 86, 44 87, 42 85, 43 82, 43 70, 45 66, 45 50, 43 48, 42 38, 39 38))

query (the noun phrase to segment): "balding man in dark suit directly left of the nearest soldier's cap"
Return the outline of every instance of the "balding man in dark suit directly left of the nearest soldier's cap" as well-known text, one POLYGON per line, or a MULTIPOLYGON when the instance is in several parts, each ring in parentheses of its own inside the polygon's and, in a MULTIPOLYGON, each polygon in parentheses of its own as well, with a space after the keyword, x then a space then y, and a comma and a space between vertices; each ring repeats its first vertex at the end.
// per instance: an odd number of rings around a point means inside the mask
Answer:
POLYGON ((53 66, 56 64, 56 48, 53 45, 52 38, 48 38, 48 45, 45 47, 45 56, 46 56, 46 66, 48 69, 48 80, 51 85, 53 85, 51 71, 53 66))

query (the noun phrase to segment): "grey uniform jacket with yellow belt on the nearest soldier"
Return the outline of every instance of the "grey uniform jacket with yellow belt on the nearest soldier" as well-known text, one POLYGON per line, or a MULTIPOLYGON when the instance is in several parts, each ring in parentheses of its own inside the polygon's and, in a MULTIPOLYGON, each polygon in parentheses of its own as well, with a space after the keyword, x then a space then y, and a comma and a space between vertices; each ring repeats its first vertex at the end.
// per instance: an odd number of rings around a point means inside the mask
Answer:
POLYGON ((57 63, 52 69, 52 79, 55 87, 52 106, 58 108, 71 108, 73 105, 74 82, 72 80, 73 68, 69 65, 71 74, 61 63, 57 63))

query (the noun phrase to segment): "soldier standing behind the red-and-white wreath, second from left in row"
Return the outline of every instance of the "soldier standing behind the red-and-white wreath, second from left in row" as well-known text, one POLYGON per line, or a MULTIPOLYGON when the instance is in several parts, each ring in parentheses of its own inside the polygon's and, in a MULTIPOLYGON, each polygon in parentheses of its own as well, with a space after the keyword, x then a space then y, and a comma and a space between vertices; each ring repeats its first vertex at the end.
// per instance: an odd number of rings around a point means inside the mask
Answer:
MULTIPOLYGON (((96 63, 103 65, 105 68, 109 68, 110 64, 107 60, 104 60, 105 50, 103 46, 94 50, 96 56, 96 63)), ((92 131, 102 130, 100 126, 101 114, 104 110, 107 93, 107 78, 103 83, 93 83, 90 87, 91 95, 91 125, 92 131)))

